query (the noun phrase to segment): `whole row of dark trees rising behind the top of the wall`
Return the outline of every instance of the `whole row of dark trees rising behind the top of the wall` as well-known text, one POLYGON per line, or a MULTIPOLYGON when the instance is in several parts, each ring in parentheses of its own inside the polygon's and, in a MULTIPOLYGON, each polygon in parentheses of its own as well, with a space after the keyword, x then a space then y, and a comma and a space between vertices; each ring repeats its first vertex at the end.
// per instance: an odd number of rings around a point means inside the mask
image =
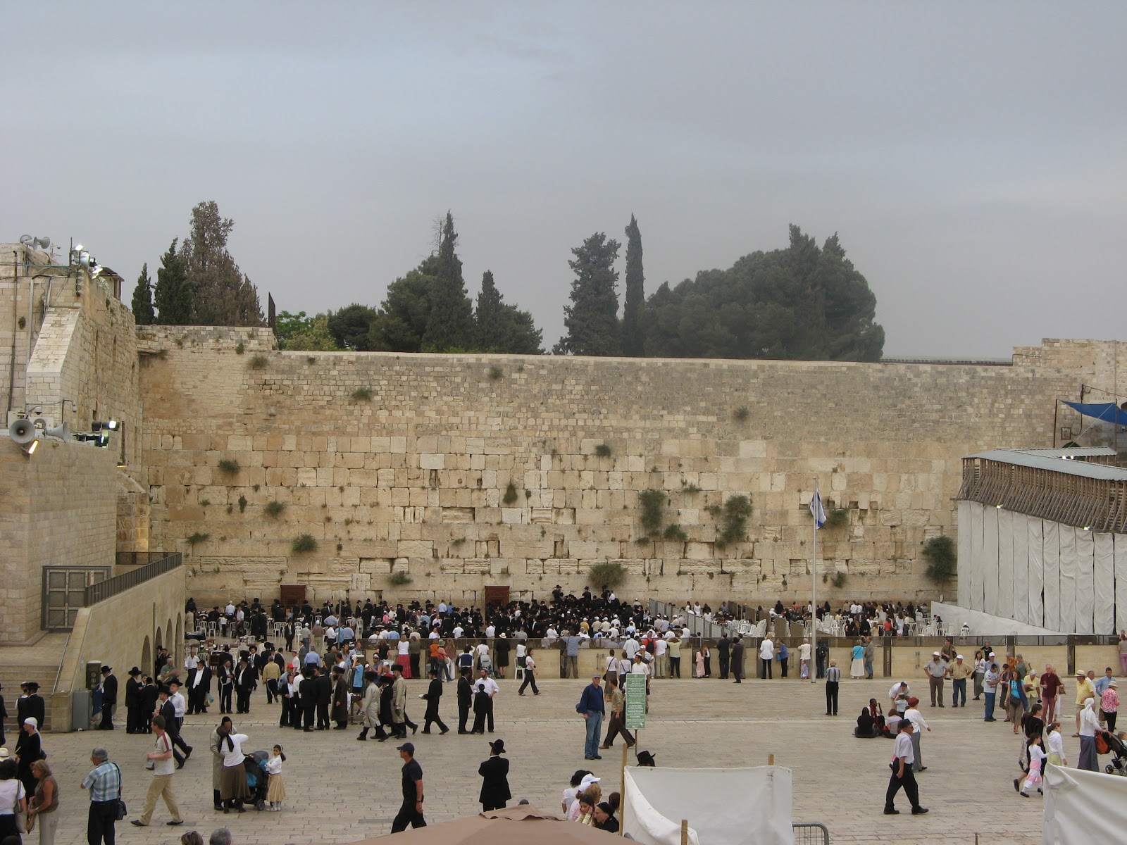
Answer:
MULTIPOLYGON (((161 256, 157 284, 148 265, 133 294, 139 324, 261 326, 258 294, 227 250, 233 222, 214 202, 192 211, 190 233, 161 256)), ((877 297, 845 257, 836 234, 820 247, 797 225, 784 249, 756 251, 728 269, 663 283, 645 296, 641 231, 625 228, 625 278, 619 317, 621 244, 596 232, 571 250, 567 333, 557 355, 672 358, 879 361, 885 332, 877 297)), ((458 257, 450 212, 436 249, 388 285, 380 305, 354 303, 308 315, 278 313, 283 349, 328 352, 470 352, 536 355, 543 332, 532 314, 505 302, 485 270, 473 302, 458 257)))

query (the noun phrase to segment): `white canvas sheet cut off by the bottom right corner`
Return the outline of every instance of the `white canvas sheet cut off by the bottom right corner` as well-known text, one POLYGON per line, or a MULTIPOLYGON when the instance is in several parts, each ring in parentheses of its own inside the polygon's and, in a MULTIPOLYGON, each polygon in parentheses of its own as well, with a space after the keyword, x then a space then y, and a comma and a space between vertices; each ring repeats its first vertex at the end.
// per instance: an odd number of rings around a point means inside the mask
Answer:
POLYGON ((1045 845, 1122 842, 1127 829, 1127 777, 1048 766, 1045 771, 1045 845))

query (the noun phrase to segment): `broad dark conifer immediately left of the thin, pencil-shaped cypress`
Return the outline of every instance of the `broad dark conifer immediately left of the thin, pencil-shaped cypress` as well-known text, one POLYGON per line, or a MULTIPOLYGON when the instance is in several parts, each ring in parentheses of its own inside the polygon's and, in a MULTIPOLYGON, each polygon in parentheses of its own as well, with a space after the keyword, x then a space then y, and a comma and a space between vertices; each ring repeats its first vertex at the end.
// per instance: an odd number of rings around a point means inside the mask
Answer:
POLYGON ((619 297, 615 285, 619 272, 619 242, 595 232, 571 250, 575 260, 568 266, 575 272, 571 282, 571 304, 564 306, 564 324, 568 333, 552 352, 571 355, 618 355, 619 297))

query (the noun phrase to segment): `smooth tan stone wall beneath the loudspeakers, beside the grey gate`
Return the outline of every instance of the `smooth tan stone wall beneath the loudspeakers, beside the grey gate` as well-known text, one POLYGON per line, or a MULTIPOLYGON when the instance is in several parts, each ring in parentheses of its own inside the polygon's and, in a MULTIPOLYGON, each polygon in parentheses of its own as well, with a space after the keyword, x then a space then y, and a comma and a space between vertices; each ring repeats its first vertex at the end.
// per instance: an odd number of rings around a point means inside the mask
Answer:
POLYGON ((115 463, 88 444, 45 441, 27 456, 0 437, 0 642, 39 634, 44 567, 113 567, 115 463))

